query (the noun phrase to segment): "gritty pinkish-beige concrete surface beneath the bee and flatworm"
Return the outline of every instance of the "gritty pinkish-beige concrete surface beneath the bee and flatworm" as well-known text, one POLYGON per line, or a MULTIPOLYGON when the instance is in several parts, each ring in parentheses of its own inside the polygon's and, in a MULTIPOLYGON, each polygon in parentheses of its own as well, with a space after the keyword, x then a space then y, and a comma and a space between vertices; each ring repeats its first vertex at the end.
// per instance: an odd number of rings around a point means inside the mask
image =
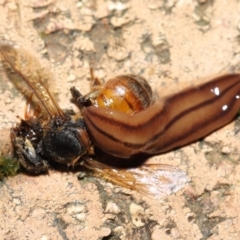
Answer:
MULTIPOLYGON (((0 0, 0 38, 50 69, 63 109, 71 86, 89 91, 89 62, 109 79, 141 74, 160 96, 239 71, 238 0, 0 0), (164 90, 164 92, 163 92, 164 90)), ((1 152, 26 101, 1 72, 1 152)), ((0 238, 240 239, 239 120, 176 151, 154 156, 191 182, 157 202, 77 173, 19 174, 0 182, 0 238)))

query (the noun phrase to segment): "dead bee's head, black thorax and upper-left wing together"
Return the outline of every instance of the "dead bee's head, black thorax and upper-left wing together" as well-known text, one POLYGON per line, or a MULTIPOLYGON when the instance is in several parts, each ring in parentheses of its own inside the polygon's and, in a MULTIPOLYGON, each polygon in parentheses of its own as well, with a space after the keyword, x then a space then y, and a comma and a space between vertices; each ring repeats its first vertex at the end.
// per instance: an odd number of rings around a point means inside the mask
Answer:
POLYGON ((51 161, 75 165, 81 157, 92 154, 83 119, 76 118, 73 112, 62 111, 45 86, 43 79, 50 81, 51 74, 43 71, 23 49, 5 44, 0 46, 0 52, 4 66, 10 66, 37 100, 34 108, 27 108, 25 119, 11 130, 22 166, 38 173, 46 171, 51 161))

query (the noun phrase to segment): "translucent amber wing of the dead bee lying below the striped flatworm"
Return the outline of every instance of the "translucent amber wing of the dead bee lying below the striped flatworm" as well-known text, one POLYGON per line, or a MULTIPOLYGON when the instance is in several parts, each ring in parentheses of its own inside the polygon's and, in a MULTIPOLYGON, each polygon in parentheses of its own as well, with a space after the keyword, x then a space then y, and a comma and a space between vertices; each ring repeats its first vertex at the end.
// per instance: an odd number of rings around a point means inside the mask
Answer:
POLYGON ((177 192, 189 182, 184 171, 169 165, 145 164, 138 168, 117 169, 89 159, 84 166, 96 176, 157 200, 177 192))

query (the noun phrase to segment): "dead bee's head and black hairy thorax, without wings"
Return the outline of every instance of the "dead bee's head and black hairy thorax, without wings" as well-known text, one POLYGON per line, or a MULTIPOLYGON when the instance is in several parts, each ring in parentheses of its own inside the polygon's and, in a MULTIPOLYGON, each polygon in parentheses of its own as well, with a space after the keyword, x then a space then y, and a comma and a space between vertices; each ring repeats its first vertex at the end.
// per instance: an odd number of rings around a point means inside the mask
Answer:
POLYGON ((12 129, 11 138, 20 163, 33 173, 47 171, 49 161, 74 166, 92 151, 83 119, 75 121, 68 115, 65 121, 52 119, 47 126, 40 125, 35 118, 22 120, 12 129))

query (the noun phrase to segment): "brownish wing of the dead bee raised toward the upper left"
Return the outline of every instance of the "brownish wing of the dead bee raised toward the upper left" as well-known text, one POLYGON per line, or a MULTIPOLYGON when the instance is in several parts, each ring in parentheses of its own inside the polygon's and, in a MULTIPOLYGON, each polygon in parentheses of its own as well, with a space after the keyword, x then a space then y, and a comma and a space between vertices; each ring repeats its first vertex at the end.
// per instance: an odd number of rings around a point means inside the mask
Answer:
POLYGON ((17 88, 28 97, 30 94, 26 94, 26 92, 30 90, 50 117, 64 118, 63 111, 44 84, 52 78, 52 75, 40 66, 36 58, 27 51, 10 44, 0 44, 0 53, 6 72, 8 73, 10 69, 18 76, 18 80, 14 82, 17 88), (28 90, 23 90, 23 82, 29 88, 28 90))

